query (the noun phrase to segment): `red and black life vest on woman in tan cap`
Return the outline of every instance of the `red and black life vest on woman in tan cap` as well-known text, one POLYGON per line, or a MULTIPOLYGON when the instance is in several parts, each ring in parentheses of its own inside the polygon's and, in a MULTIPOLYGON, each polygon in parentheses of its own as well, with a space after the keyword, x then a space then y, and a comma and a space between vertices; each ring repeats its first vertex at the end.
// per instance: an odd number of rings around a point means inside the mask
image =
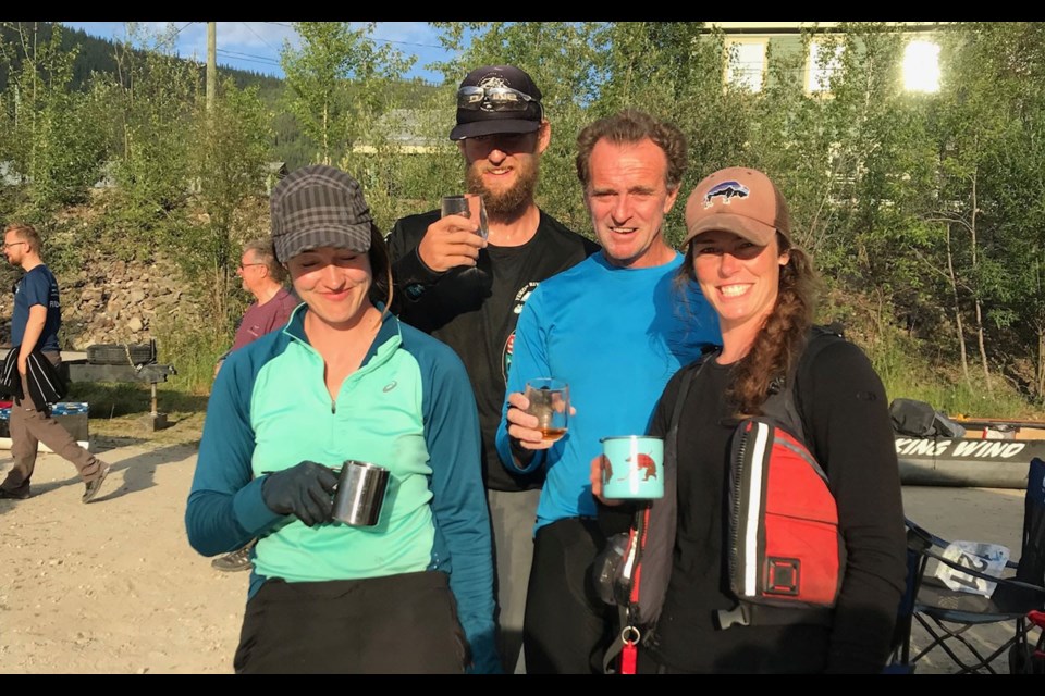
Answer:
MULTIPOLYGON (((806 445, 794 385, 798 370, 838 340, 836 328, 813 326, 795 374, 771 388, 763 415, 741 421, 734 434, 729 506, 736 523, 727 563, 737 606, 720 612, 721 629, 831 621, 845 546, 826 473, 806 445), (810 535, 816 537, 811 544, 810 535)), ((592 569, 603 601, 620 610, 622 631, 603 661, 607 672, 622 651, 625 661, 634 660, 635 643, 660 617, 675 546, 678 422, 693 378, 715 355, 683 369, 664 438, 664 497, 638 509, 631 529, 607 540, 592 569)))

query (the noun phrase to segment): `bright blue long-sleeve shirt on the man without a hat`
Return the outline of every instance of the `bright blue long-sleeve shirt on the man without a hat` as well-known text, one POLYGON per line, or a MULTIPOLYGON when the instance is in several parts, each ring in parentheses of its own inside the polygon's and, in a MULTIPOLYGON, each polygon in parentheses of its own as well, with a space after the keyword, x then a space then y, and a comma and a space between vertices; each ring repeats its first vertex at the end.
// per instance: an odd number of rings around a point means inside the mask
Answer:
MULTIPOLYGON (((676 253, 663 265, 622 269, 595 253, 541 283, 522 307, 506 394, 524 391, 527 380, 557 377, 569 383, 577 410, 566 435, 522 469, 546 470, 534 533, 556 520, 595 517, 589 471, 601 438, 644 435, 668 378, 705 345, 722 343, 700 287, 675 288, 681 263, 676 253)), ((507 409, 505 397, 497 452, 515 467, 507 409)))

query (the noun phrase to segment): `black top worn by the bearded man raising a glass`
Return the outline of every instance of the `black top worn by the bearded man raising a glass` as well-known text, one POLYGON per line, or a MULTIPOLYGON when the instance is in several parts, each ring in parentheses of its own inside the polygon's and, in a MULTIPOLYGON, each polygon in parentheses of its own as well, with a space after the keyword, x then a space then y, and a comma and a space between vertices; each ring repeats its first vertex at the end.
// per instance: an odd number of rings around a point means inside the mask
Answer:
POLYGON ((395 282, 393 311, 404 322, 447 344, 465 363, 479 409, 487 487, 539 488, 541 472, 528 476, 511 473, 501 463, 494 445, 515 325, 538 283, 585 260, 600 247, 541 211, 537 233, 525 245, 488 245, 479 252, 475 268, 435 273, 421 262, 417 246, 437 220, 438 210, 409 215, 389 233, 395 282))

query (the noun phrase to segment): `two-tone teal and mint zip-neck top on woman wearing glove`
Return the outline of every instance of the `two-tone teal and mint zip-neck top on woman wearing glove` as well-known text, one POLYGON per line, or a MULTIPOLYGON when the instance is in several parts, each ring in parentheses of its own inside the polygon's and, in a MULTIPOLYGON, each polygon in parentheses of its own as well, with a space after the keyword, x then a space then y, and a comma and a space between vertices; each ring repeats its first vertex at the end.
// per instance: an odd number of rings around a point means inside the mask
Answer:
MULTIPOLYGON (((495 671, 490 519, 479 421, 465 366, 445 344, 388 314, 361 366, 331 400, 299 306, 282 331, 231 353, 218 373, 185 526, 205 556, 258 537, 248 597, 269 577, 450 574, 472 671, 495 671), (267 472, 346 459, 390 470, 373 527, 306 526, 261 498, 267 472)), ((423 631, 425 626, 418 626, 423 631)))

